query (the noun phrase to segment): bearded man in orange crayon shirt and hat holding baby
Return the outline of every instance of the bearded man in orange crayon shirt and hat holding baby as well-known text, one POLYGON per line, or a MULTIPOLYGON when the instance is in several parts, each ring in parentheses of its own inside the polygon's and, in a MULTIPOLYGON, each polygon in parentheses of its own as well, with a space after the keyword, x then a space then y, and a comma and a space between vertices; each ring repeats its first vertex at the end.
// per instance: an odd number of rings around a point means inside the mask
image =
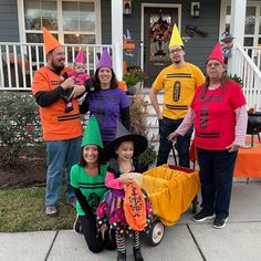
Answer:
POLYGON ((66 178, 66 202, 75 205, 70 171, 71 167, 80 159, 82 140, 77 100, 73 98, 72 101, 74 111, 64 113, 64 102, 61 94, 70 87, 74 87, 72 95, 75 97, 85 88, 84 86, 75 86, 74 77, 61 81, 61 76, 70 71, 64 66, 64 49, 46 29, 43 29, 43 41, 46 65, 35 72, 32 93, 40 106, 43 139, 48 152, 45 213, 54 217, 58 213, 56 206, 62 189, 63 170, 65 170, 66 178))

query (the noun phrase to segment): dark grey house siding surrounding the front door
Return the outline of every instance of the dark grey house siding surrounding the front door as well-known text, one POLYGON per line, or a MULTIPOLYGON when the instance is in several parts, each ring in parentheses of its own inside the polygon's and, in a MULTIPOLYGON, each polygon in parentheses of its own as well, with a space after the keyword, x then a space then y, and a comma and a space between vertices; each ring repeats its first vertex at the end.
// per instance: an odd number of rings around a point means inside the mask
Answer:
MULTIPOLYGON (((192 18, 190 15, 190 1, 171 1, 165 0, 159 2, 158 0, 144 0, 132 2, 132 15, 124 17, 124 32, 128 29, 132 33, 132 39, 136 44, 140 41, 140 13, 142 3, 173 3, 181 4, 181 30, 182 36, 188 36, 185 33, 186 25, 198 27, 199 29, 208 32, 206 38, 195 34, 188 42, 185 42, 186 48, 186 61, 191 62, 205 71, 205 62, 208 54, 219 40, 219 19, 220 19, 220 0, 209 1, 200 0, 200 17, 192 18)), ((136 55, 138 55, 136 53, 136 55)))

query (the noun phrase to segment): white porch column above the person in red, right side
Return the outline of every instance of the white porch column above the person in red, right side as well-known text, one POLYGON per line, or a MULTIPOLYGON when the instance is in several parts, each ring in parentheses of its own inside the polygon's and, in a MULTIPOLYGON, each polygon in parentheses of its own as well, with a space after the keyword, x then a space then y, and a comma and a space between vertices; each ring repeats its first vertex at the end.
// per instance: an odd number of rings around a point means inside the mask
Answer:
MULTIPOLYGON (((230 33, 234 36, 234 43, 243 46, 244 20, 246 20, 247 0, 231 0, 230 33)), ((229 59, 228 73, 237 73, 237 59, 234 58, 234 49, 232 56, 229 59)))

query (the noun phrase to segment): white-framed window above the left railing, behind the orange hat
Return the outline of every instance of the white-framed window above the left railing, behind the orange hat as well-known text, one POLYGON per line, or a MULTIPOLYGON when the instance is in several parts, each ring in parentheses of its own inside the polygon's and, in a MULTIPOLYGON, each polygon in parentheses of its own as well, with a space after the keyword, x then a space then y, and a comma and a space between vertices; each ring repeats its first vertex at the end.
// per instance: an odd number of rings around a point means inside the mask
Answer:
POLYGON ((42 42, 42 27, 64 43, 96 43, 96 1, 23 0, 28 43, 42 42))

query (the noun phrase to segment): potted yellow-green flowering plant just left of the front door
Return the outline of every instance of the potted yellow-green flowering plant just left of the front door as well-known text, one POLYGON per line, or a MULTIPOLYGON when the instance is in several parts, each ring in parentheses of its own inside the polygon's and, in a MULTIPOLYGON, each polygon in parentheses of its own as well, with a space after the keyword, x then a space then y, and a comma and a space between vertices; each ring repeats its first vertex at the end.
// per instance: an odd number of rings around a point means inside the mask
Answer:
POLYGON ((140 67, 134 66, 129 69, 124 75, 123 81, 127 84, 128 94, 134 95, 142 88, 142 83, 145 75, 140 67))

